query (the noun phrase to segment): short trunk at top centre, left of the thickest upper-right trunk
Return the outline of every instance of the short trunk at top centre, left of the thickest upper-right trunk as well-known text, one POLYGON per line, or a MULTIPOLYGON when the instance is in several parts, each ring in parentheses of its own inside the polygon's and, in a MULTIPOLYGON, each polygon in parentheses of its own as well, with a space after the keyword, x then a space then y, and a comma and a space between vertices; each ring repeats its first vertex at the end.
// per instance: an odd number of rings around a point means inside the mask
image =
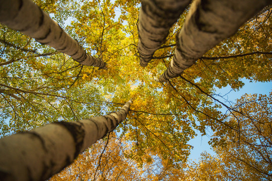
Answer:
POLYGON ((142 0, 139 13, 141 66, 147 66, 154 52, 165 42, 169 29, 191 0, 142 0))

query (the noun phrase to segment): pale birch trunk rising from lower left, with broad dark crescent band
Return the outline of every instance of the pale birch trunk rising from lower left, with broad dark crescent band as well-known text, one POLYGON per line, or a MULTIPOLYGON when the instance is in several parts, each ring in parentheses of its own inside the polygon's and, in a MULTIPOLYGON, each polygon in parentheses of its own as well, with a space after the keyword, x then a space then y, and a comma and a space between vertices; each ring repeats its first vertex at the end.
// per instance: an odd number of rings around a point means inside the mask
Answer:
POLYGON ((56 122, 0 140, 0 180, 45 180, 111 132, 126 118, 118 112, 77 122, 56 122))

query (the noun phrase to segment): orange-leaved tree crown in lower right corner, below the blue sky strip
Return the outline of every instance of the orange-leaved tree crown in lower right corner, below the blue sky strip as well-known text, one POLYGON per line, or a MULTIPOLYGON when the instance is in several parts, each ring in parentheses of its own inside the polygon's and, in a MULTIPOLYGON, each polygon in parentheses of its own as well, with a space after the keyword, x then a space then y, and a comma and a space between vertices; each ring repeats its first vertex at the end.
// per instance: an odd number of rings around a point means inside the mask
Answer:
POLYGON ((217 155, 203 153, 199 163, 189 167, 187 177, 190 180, 270 180, 271 96, 271 93, 244 95, 239 99, 235 107, 243 114, 228 119, 229 125, 239 132, 224 127, 218 130, 211 138, 217 155))

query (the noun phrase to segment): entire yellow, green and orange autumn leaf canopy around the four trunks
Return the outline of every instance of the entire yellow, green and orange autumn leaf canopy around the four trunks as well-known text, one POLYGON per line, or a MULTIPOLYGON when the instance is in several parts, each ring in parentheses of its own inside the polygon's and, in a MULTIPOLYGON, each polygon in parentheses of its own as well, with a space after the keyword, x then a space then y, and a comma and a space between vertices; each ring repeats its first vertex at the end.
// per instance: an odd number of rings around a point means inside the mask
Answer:
MULTIPOLYGON (((143 1, 145 2, 145 1, 143 1)), ((140 1, 36 0, 107 69, 85 66, 0 25, 1 137, 55 121, 119 110, 126 119, 51 180, 269 180, 272 95, 222 101, 217 88, 272 80, 272 9, 266 7, 178 77, 158 82, 175 52, 189 7, 140 65, 140 1), (188 141, 212 130, 216 156, 190 162, 188 141)), ((226 98, 226 97, 224 97, 226 98)))

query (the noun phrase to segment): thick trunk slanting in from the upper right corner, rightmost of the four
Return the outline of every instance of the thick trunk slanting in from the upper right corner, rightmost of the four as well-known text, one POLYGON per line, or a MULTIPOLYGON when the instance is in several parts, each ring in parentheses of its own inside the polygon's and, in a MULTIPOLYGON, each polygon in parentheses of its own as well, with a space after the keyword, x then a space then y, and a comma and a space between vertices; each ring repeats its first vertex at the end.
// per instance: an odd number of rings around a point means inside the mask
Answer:
POLYGON ((271 0, 194 1, 177 35, 173 59, 159 81, 179 76, 205 52, 233 35, 243 23, 271 3, 271 0))

